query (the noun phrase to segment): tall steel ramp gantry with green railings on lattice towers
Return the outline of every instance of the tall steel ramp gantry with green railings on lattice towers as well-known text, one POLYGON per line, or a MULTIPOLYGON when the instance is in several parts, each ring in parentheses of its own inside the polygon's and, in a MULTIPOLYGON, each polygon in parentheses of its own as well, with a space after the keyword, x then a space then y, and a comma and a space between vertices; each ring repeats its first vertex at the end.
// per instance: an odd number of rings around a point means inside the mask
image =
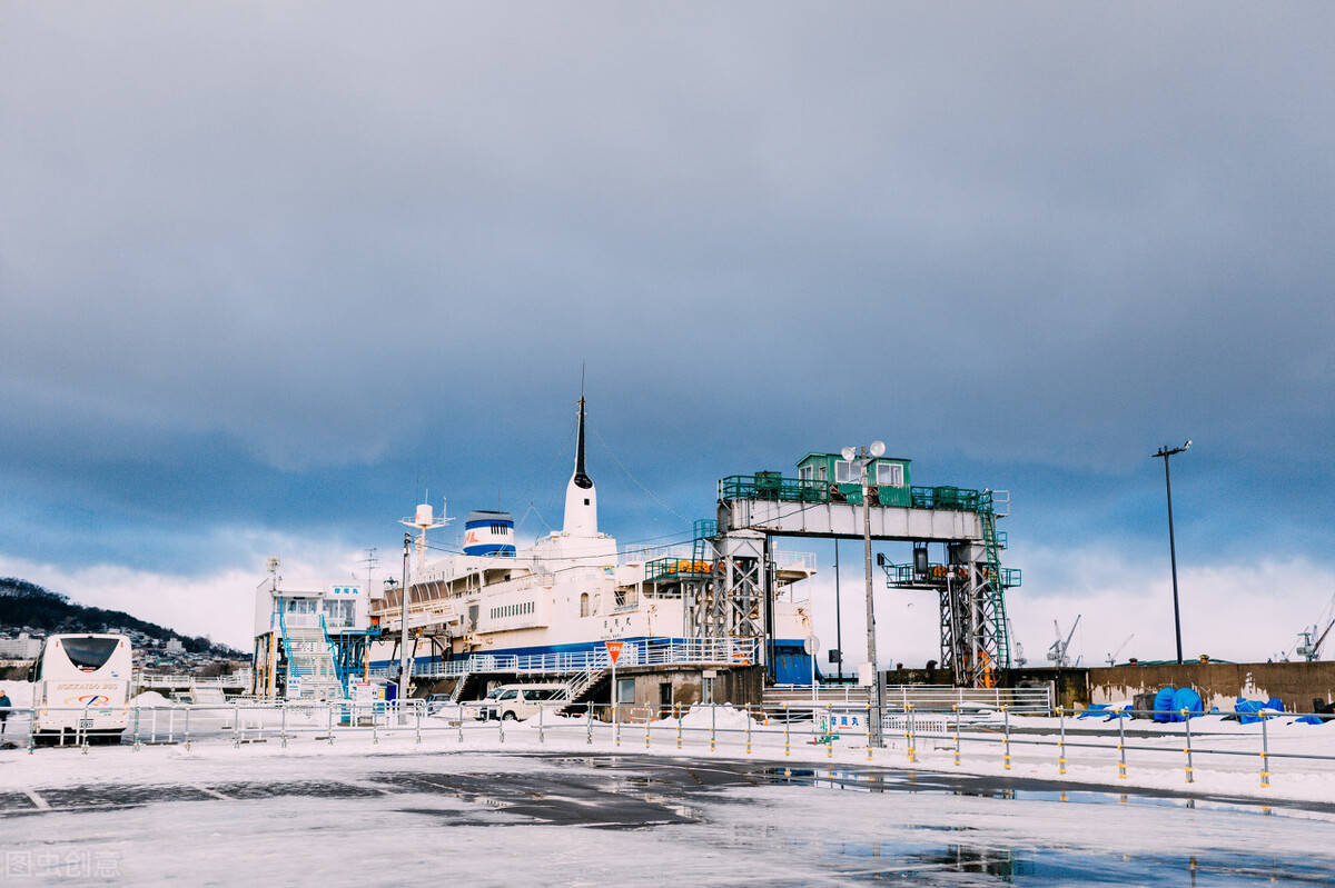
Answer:
MULTIPOLYGON (((906 468, 906 460, 904 460, 906 468)), ((912 543, 910 564, 878 561, 892 588, 939 593, 941 665, 961 687, 993 687, 1011 667, 1005 589, 1020 571, 1003 568, 1009 512, 1004 491, 957 487, 868 487, 870 537, 912 543), (944 560, 932 563, 929 545, 944 560)), ((718 483, 717 521, 696 523, 690 561, 672 560, 681 584, 688 636, 772 639, 777 576, 773 537, 862 539, 862 491, 820 477, 785 479, 774 472, 734 475, 718 483)), ((761 645, 762 656, 768 645, 761 645)))

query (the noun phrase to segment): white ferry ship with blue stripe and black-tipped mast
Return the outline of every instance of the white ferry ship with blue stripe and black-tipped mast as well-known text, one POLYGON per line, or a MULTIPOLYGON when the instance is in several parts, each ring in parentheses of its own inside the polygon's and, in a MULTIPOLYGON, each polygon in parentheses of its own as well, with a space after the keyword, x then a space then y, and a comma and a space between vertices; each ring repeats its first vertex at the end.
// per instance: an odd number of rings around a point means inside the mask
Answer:
MULTIPOLYGON (((761 639, 689 637, 680 577, 708 573, 712 564, 702 559, 712 556, 705 552, 622 552, 598 529, 581 397, 561 529, 518 548, 510 513, 475 511, 465 523, 462 553, 426 561, 410 576, 411 673, 421 681, 575 672, 605 659, 606 641, 621 640, 627 665, 764 661, 781 683, 809 683, 813 664, 802 645, 812 633, 810 604, 794 587, 816 572, 814 556, 776 553, 773 632, 762 651, 761 639)), ((398 672, 402 605, 402 589, 371 600, 371 619, 382 631, 371 645, 371 675, 398 672)))

